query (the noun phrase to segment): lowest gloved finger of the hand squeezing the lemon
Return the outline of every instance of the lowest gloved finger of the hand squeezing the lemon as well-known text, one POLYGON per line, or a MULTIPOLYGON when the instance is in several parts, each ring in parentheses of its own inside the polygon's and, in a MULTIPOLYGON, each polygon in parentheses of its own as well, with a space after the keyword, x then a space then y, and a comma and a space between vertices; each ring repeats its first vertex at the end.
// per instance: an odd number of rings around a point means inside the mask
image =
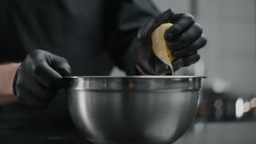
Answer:
POLYGON ((193 53, 189 56, 183 56, 180 59, 176 59, 172 62, 173 67, 181 68, 187 67, 189 65, 193 65, 194 63, 198 62, 200 59, 200 55, 198 52, 193 53))

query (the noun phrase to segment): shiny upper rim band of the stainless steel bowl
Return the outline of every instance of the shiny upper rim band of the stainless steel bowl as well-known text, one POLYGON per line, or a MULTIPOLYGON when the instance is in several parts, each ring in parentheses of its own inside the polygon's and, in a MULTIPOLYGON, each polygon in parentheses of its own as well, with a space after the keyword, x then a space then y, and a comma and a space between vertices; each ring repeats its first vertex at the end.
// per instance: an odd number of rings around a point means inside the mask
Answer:
POLYGON ((68 76, 66 88, 75 90, 199 90, 202 76, 68 76))

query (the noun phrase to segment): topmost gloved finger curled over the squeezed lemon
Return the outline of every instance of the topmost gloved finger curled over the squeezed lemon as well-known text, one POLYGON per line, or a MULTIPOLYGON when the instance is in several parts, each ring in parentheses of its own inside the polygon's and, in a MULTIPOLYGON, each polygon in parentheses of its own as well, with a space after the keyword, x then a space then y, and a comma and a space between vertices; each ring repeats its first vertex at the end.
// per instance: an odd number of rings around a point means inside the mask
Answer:
POLYGON ((194 17, 188 13, 175 14, 170 23, 173 23, 174 25, 171 26, 164 35, 164 39, 167 42, 173 41, 184 33, 184 31, 194 23, 194 17))

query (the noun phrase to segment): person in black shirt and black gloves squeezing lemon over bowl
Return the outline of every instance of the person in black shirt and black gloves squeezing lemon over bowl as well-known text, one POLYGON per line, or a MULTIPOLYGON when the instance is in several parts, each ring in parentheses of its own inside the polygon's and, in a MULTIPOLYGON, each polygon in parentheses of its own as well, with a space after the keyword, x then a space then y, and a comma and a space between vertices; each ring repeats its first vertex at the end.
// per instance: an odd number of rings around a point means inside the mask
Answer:
POLYGON ((159 13, 150 0, 1 0, 0 143, 79 139, 62 76, 108 75, 113 65, 170 75, 151 49, 162 23, 174 24, 164 35, 174 70, 196 63, 207 42, 200 24, 173 9, 159 13))

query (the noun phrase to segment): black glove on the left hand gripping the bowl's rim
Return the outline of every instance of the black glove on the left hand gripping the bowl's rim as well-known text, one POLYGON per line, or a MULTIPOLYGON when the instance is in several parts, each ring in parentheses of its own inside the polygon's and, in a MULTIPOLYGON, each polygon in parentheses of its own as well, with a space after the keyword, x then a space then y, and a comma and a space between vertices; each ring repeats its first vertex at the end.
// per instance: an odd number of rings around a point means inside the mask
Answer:
POLYGON ((64 87, 62 76, 70 76, 66 59, 43 50, 33 50, 18 68, 13 81, 13 93, 20 103, 44 109, 64 87))

